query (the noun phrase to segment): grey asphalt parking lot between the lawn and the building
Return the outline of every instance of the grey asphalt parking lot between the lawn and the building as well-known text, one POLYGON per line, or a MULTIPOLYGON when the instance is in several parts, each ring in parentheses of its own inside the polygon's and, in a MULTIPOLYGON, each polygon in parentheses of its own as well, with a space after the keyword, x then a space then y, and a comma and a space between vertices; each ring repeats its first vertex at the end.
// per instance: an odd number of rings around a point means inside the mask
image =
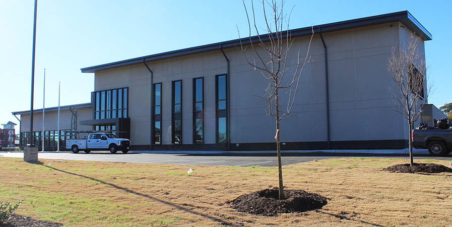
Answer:
MULTIPOLYGON (((0 157, 19 157, 24 156, 23 152, 0 152, 0 157)), ((408 154, 375 154, 375 153, 283 153, 282 164, 291 165, 307 161, 342 158, 342 157, 379 157, 379 158, 405 158, 408 154)), ((428 154, 415 154, 416 159, 430 158, 438 160, 450 160, 452 155, 446 157, 433 157, 428 154)), ((120 152, 111 154, 108 151, 96 151, 86 154, 80 152, 39 152, 38 158, 42 159, 65 159, 65 160, 86 160, 86 161, 112 161, 112 162, 136 162, 136 163, 161 163, 161 164, 180 164, 180 165, 235 165, 235 166, 277 166, 278 161, 275 153, 256 154, 155 154, 141 153, 135 151, 127 154, 120 152)))

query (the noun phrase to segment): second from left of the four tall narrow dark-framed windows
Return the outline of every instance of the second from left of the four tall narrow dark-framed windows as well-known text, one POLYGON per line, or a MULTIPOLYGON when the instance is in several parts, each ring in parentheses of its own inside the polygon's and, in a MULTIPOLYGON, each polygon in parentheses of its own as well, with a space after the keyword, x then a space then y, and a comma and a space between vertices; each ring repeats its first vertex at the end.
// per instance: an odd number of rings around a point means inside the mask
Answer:
POLYGON ((173 81, 172 144, 182 143, 182 81, 173 81))

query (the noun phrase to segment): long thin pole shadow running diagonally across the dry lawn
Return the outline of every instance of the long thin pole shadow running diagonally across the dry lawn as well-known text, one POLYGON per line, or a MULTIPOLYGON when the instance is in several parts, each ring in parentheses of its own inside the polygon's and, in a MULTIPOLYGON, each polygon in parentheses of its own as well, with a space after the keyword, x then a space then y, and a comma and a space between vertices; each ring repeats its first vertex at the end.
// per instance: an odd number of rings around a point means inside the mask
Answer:
MULTIPOLYGON (((39 164, 39 163, 36 163, 36 164, 39 164)), ((42 162, 41 162, 41 164, 42 164, 42 162)), ((234 223, 225 221, 225 220, 223 220, 223 219, 221 219, 221 218, 214 217, 214 216, 211 216, 211 215, 208 215, 208 214, 203 214, 203 213, 196 212, 196 211, 193 211, 193 210, 189 210, 189 209, 187 209, 187 208, 185 208, 185 207, 183 207, 183 206, 180 206, 180 205, 177 205, 177 204, 168 202, 168 201, 164 201, 164 200, 161 200, 161 199, 158 199, 158 198, 155 198, 155 197, 146 195, 146 194, 142 194, 142 193, 139 193, 139 192, 135 192, 135 191, 133 191, 133 190, 130 190, 130 189, 127 189, 127 188, 124 188, 124 187, 121 187, 121 186, 117 186, 117 185, 114 185, 114 184, 111 184, 111 183, 107 183, 107 182, 104 182, 104 181, 101 181, 101 180, 97 180, 97 179, 95 179, 95 178, 83 176, 83 175, 80 175, 80 174, 74 174, 74 173, 71 173, 71 172, 68 172, 68 171, 63 171, 63 170, 61 170, 61 169, 57 169, 57 168, 52 167, 52 166, 48 166, 48 165, 44 165, 44 164, 42 164, 42 165, 43 165, 43 166, 46 166, 46 167, 48 167, 48 168, 51 168, 51 169, 53 169, 53 170, 55 170, 55 171, 59 171, 59 172, 61 172, 61 173, 65 173, 65 174, 70 174, 70 175, 74 175, 74 176, 86 178, 86 179, 89 179, 89 180, 92 180, 92 181, 95 181, 95 182, 98 182, 98 183, 101 183, 101 184, 104 184, 104 185, 111 186, 111 187, 116 188, 116 189, 119 189, 119 190, 122 190, 122 191, 124 191, 124 192, 132 193, 132 194, 135 194, 135 195, 138 195, 138 196, 142 196, 142 197, 145 197, 145 198, 148 198, 148 199, 152 199, 152 200, 155 200, 155 201, 157 201, 157 202, 166 204, 166 205, 168 205, 168 206, 175 207, 175 208, 177 208, 177 209, 179 209, 179 210, 183 210, 183 211, 188 212, 188 213, 191 213, 191 214, 195 214, 195 215, 200 215, 200 216, 206 217, 206 218, 211 219, 211 220, 213 220, 213 221, 215 221, 215 222, 219 222, 220 224, 223 224, 223 225, 228 225, 228 226, 240 226, 240 225, 238 225, 238 224, 234 224, 234 223)))

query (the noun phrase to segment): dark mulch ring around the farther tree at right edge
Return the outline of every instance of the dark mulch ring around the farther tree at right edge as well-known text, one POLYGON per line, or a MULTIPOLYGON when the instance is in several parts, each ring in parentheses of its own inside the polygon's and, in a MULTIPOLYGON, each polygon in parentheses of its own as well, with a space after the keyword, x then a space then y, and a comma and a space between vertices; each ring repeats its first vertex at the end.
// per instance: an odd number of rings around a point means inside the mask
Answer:
POLYGON ((383 168, 383 171, 389 171, 393 173, 428 173, 428 174, 437 174, 443 172, 452 173, 452 168, 446 167, 444 165, 438 165, 434 163, 414 163, 413 166, 407 164, 398 164, 383 168))

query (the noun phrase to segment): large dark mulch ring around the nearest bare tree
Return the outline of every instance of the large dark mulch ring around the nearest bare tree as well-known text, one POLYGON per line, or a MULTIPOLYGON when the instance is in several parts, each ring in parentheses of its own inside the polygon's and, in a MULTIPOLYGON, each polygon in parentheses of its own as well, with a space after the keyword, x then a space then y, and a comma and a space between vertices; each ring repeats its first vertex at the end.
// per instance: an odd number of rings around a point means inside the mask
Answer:
POLYGON ((303 190, 284 190, 282 200, 278 195, 278 189, 265 189, 241 195, 229 203, 240 212, 265 216, 320 209, 327 204, 327 198, 303 190))

